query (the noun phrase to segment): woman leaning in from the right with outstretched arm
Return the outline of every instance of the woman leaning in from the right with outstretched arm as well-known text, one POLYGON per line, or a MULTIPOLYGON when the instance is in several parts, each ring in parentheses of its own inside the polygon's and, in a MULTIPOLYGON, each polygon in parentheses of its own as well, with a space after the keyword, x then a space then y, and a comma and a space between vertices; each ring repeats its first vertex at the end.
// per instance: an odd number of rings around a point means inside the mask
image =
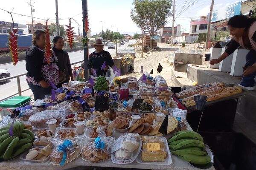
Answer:
POLYGON ((256 76, 256 19, 247 18, 244 15, 231 17, 227 22, 227 27, 232 35, 230 45, 225 52, 218 58, 212 59, 209 64, 214 65, 230 54, 232 54, 239 45, 250 50, 246 55, 246 63, 243 67, 244 75, 239 86, 247 90, 254 90, 254 78, 256 76))

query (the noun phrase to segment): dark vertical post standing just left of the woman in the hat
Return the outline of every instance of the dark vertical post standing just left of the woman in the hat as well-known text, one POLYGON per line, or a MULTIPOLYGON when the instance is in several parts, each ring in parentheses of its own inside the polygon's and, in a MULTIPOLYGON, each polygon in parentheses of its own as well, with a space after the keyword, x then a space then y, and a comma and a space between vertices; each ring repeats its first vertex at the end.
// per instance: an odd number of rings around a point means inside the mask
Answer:
MULTIPOLYGON (((82 0, 83 7, 83 37, 87 36, 87 32, 85 31, 85 18, 87 17, 87 0, 82 0)), ((89 70, 87 68, 88 64, 88 43, 84 47, 84 79, 88 81, 89 79, 89 70)))

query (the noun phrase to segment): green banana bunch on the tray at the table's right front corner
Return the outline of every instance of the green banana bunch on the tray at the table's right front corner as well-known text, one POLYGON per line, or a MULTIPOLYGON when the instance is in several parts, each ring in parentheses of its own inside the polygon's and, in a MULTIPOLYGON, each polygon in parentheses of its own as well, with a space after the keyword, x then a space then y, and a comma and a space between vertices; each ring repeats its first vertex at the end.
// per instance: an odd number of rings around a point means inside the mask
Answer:
POLYGON ((208 164, 211 158, 204 149, 204 141, 199 133, 183 130, 174 133, 168 140, 173 155, 193 164, 208 164))

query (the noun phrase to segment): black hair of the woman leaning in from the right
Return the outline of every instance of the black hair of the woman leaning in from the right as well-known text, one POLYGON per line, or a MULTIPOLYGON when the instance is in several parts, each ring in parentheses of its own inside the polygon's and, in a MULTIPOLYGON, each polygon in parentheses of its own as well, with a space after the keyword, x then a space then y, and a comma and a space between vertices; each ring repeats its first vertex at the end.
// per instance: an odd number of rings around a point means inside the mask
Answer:
POLYGON ((227 25, 232 26, 234 28, 249 28, 253 22, 256 21, 256 18, 248 18, 245 15, 235 15, 231 17, 227 25))

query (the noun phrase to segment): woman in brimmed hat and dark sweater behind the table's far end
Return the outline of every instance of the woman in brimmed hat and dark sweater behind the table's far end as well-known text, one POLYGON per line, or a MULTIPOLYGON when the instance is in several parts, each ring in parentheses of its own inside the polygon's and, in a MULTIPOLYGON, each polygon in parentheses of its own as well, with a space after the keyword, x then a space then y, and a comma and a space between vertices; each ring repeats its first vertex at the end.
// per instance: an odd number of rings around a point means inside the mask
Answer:
POLYGON ((95 51, 90 54, 88 60, 88 69, 93 73, 93 69, 96 69, 96 74, 99 77, 106 75, 106 70, 108 70, 108 65, 112 67, 114 65, 113 59, 108 51, 104 51, 104 44, 102 40, 96 39, 95 44, 92 44, 92 47, 95 47, 95 51), (106 62, 106 67, 102 68, 103 63, 106 62))

